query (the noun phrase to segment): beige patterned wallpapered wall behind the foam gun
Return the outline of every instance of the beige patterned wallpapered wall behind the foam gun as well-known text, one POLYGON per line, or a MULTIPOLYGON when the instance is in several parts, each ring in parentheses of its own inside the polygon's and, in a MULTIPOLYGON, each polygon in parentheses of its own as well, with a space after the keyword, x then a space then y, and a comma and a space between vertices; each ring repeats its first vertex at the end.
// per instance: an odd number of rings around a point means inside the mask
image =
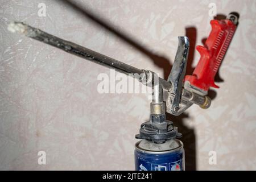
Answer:
POLYGON ((168 75, 177 36, 191 38, 188 73, 199 60, 193 43, 217 13, 240 14, 218 74, 212 106, 171 117, 183 133, 186 167, 256 169, 256 1, 80 1, 86 10, 143 48, 139 50, 56 1, 0 1, 0 169, 133 170, 134 138, 149 118, 145 94, 100 94, 101 67, 7 31, 19 20, 141 69, 168 75), (46 17, 38 4, 46 4, 46 17), (164 71, 166 73, 164 73, 164 71), (46 151, 46 165, 38 152, 46 151), (208 163, 216 151, 217 164, 208 163))

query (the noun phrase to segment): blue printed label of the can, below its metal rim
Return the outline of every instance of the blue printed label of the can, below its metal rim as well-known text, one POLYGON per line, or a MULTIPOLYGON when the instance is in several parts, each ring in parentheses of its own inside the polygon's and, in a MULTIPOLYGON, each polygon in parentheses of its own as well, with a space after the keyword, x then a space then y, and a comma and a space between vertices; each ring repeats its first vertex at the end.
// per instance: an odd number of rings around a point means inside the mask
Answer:
POLYGON ((170 151, 166 154, 147 154, 135 150, 136 171, 184 171, 184 149, 170 151))

